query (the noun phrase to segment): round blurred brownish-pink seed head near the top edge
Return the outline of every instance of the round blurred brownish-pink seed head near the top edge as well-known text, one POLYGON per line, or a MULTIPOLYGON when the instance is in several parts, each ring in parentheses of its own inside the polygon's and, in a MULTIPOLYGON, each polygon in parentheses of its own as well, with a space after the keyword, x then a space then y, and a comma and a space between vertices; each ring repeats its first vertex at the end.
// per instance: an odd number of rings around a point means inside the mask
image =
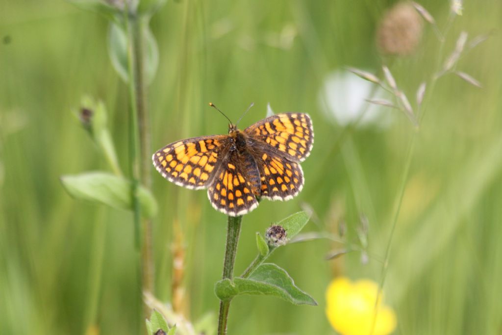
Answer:
POLYGON ((416 50, 422 38, 422 21, 410 3, 391 8, 376 31, 376 45, 383 54, 406 56, 416 50))

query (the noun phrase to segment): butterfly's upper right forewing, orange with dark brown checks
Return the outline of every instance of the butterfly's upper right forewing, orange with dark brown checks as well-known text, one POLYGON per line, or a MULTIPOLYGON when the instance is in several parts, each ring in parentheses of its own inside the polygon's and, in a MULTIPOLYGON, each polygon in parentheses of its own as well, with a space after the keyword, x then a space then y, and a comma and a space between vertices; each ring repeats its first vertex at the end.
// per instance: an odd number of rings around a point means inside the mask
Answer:
POLYGON ((304 113, 282 113, 246 128, 244 132, 287 154, 293 161, 304 161, 312 150, 312 121, 304 113))

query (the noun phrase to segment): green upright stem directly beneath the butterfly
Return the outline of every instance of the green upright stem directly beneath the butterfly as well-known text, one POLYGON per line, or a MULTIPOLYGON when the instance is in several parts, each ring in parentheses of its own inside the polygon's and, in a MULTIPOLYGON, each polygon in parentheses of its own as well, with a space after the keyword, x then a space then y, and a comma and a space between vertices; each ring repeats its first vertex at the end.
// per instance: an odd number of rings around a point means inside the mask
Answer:
MULTIPOLYGON (((239 242, 240 224, 242 216, 228 216, 228 226, 226 231, 226 250, 225 260, 223 262, 222 279, 233 278, 233 265, 235 264, 235 255, 237 253, 237 243, 239 242)), ((220 310, 218 317, 218 335, 226 334, 226 324, 228 319, 228 310, 230 300, 220 301, 220 310)))

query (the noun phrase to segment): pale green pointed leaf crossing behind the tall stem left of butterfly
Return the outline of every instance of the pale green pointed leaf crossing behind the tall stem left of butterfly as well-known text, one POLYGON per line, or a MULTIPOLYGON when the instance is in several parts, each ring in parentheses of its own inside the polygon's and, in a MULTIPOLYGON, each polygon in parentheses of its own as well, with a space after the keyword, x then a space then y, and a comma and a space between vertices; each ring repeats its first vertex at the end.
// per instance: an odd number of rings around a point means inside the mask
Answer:
MULTIPOLYGON (((84 199, 106 204, 121 209, 133 209, 131 182, 106 172, 87 172, 79 175, 61 177, 66 191, 77 199, 84 199)), ((157 212, 157 202, 152 193, 140 186, 138 197, 145 217, 152 217, 157 212)))

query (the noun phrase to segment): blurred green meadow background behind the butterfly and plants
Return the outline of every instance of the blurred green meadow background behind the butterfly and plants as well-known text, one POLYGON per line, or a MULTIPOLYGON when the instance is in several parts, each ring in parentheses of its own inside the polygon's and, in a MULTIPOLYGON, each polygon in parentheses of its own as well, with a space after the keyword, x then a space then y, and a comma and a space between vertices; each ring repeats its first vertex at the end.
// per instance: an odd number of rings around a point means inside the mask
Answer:
MULTIPOLYGON (((360 253, 325 261, 339 244, 318 240, 279 250, 273 261, 319 306, 270 297, 232 302, 229 333, 332 334, 325 289, 335 275, 382 279, 414 132, 398 110, 387 127, 337 126, 322 112, 326 76, 350 65, 378 72, 375 29, 392 1, 168 2, 153 17, 160 52, 149 88, 152 152, 181 138, 226 133, 209 101, 242 127, 266 115, 311 115, 315 145, 303 164, 306 184, 292 201, 263 201, 246 215, 236 260, 240 273, 256 255, 255 232, 311 206, 307 231, 347 225, 357 241, 359 213, 369 222, 369 261, 360 253)), ((449 2, 421 3, 442 28, 449 2)), ((466 52, 454 75, 440 78, 412 152, 389 258, 386 301, 402 334, 502 333, 502 3, 465 1, 442 57, 461 31, 494 35, 466 52)), ((128 157, 128 88, 110 64, 107 22, 64 1, 0 1, 0 333, 135 333, 137 273, 132 214, 72 199, 59 177, 107 169, 71 113, 82 95, 102 99, 120 164, 128 157)), ((416 53, 385 58, 414 100, 439 60, 430 26, 416 53)), ((152 167, 153 169, 153 167, 152 167)), ((182 189, 153 171, 156 296, 171 298, 173 222, 184 236, 186 315, 217 312, 226 217, 206 192, 182 189)))

